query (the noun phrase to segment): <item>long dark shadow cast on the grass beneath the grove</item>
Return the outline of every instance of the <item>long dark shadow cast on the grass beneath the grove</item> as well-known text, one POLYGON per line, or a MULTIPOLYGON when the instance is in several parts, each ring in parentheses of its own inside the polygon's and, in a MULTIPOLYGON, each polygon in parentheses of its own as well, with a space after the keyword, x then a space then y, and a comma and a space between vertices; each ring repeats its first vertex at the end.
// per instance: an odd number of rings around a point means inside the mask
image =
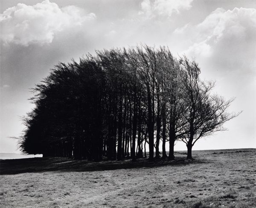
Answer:
POLYGON ((104 171, 128 168, 151 168, 164 165, 189 165, 190 163, 208 163, 209 161, 187 160, 186 157, 176 157, 175 160, 154 160, 142 158, 136 162, 102 161, 92 162, 88 160, 73 160, 64 157, 24 158, 14 160, 0 160, 0 174, 20 174, 42 171, 104 171))

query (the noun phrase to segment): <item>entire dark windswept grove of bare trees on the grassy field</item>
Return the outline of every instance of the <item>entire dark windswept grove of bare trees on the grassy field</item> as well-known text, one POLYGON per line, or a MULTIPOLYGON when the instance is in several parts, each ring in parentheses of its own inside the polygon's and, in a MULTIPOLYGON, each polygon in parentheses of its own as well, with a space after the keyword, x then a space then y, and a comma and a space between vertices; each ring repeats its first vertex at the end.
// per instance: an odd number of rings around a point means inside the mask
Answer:
POLYGON ((201 137, 236 117, 233 100, 212 94, 200 68, 166 47, 111 49, 79 63, 59 63, 33 89, 35 108, 24 117, 20 148, 44 157, 100 161, 125 157, 174 160, 177 140, 187 158, 201 137), (169 155, 166 143, 169 142, 169 155))

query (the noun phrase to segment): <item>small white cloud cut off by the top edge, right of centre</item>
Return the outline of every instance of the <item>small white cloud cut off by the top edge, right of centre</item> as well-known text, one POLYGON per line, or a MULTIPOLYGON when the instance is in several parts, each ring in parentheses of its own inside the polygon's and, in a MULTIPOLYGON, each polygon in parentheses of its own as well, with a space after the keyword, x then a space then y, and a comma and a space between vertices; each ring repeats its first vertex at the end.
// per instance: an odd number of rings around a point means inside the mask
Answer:
POLYGON ((180 13, 181 10, 189 10, 193 0, 143 0, 141 11, 146 17, 172 16, 173 13, 180 13))

